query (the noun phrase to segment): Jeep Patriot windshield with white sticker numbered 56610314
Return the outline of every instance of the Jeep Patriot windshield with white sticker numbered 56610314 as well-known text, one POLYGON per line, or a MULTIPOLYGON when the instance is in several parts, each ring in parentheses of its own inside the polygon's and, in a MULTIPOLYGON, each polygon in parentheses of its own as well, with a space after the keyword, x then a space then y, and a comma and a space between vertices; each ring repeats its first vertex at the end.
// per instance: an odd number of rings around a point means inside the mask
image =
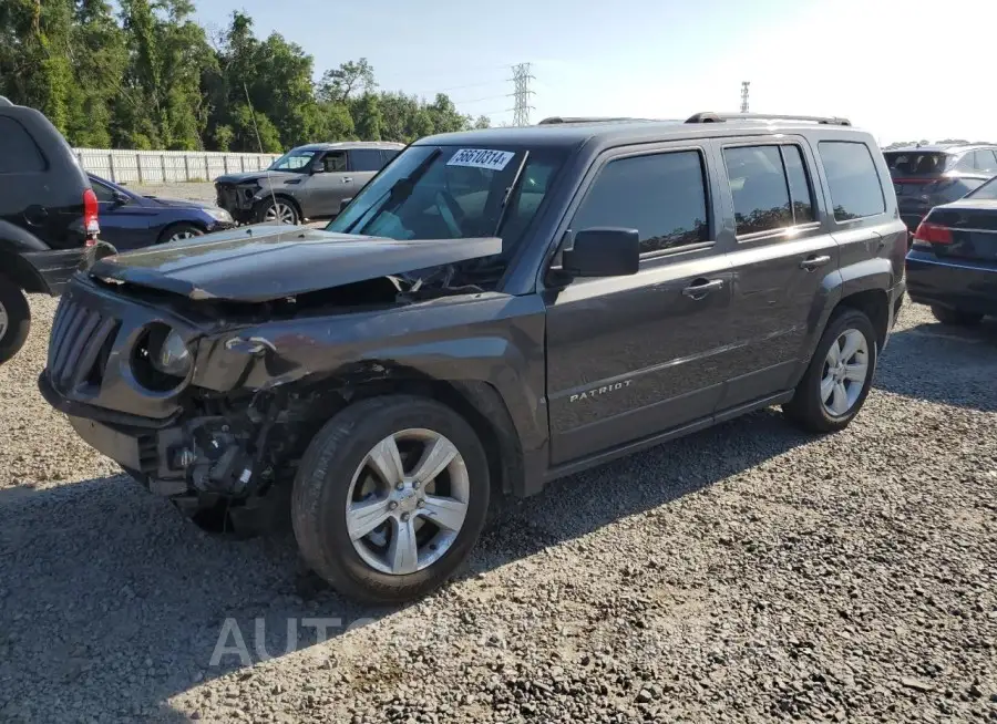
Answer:
POLYGON ((508 257, 561 161, 549 148, 410 146, 326 229, 399 240, 500 236, 508 257))

